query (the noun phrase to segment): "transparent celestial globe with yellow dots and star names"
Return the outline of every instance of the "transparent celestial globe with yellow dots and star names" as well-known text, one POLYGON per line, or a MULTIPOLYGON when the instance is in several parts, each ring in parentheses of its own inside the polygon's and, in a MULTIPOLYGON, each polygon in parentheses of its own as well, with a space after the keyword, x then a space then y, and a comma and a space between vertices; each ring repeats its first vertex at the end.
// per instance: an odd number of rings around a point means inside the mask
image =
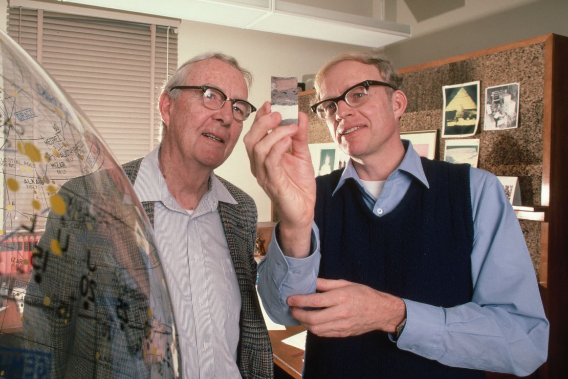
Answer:
POLYGON ((0 377, 177 377, 172 304, 133 178, 1 30, 0 77, 0 377))

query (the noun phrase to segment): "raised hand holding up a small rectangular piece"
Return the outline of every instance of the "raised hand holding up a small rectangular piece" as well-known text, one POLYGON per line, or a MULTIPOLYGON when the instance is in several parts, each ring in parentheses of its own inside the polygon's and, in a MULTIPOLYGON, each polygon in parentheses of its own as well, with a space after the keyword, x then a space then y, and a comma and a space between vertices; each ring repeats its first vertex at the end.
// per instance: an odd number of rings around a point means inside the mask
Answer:
POLYGON ((278 239, 283 252, 304 257, 310 253, 316 197, 308 118, 300 112, 298 125, 278 127, 281 119, 279 113, 270 113, 270 103, 265 102, 244 136, 244 143, 250 170, 281 218, 278 239))

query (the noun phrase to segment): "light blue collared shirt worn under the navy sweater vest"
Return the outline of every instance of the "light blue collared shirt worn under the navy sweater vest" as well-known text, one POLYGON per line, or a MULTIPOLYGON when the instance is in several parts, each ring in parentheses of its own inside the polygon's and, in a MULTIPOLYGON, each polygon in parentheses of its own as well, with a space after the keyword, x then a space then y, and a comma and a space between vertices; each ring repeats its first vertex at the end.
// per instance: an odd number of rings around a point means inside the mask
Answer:
MULTIPOLYGON (((419 155, 410 141, 403 142, 406 155, 387 178, 376 201, 361 186, 352 161, 336 191, 347 178, 354 178, 369 209, 381 217, 395 209, 413 180, 428 188, 419 155)), ((525 376, 544 363, 548 355, 549 323, 531 257, 499 180, 491 173, 470 168, 470 187, 473 298, 449 308, 403 299, 407 322, 396 345, 449 366, 525 376)), ((304 259, 286 257, 273 235, 266 258, 258 267, 258 291, 274 322, 298 324, 286 299, 315 292, 321 258, 315 223, 312 246, 314 252, 304 259)))

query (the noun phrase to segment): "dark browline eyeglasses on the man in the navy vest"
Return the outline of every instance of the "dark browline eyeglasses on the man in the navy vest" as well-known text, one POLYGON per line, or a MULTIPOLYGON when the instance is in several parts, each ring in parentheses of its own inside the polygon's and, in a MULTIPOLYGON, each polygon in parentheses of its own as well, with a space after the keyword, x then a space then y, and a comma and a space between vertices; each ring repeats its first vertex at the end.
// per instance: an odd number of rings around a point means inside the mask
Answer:
POLYGON ((369 100, 369 86, 387 86, 394 90, 396 87, 387 82, 378 80, 366 80, 349 87, 341 96, 333 99, 325 99, 311 106, 312 111, 322 120, 328 120, 335 117, 337 112, 337 103, 341 100, 352 108, 364 105, 369 100))

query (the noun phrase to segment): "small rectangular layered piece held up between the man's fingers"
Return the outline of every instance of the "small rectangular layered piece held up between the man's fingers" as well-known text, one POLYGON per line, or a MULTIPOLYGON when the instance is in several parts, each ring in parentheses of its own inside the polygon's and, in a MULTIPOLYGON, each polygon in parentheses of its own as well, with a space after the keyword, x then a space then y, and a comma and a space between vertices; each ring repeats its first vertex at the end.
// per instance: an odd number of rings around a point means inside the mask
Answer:
POLYGON ((270 110, 282 115, 281 125, 298 123, 298 79, 273 76, 270 83, 270 110))

